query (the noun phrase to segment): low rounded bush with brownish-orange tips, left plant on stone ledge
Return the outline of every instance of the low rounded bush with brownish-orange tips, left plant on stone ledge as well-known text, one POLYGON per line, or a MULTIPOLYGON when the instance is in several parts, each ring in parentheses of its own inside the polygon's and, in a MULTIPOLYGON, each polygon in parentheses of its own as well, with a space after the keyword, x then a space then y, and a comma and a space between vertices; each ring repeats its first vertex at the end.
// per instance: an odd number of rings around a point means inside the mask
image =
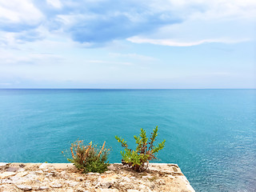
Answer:
POLYGON ((109 166, 106 160, 110 150, 106 149, 105 144, 106 142, 103 143, 102 147, 98 147, 90 142, 88 146, 85 146, 83 141, 76 141, 70 147, 72 158, 67 160, 74 163, 74 166, 78 170, 82 170, 83 173, 94 172, 101 174, 109 166))

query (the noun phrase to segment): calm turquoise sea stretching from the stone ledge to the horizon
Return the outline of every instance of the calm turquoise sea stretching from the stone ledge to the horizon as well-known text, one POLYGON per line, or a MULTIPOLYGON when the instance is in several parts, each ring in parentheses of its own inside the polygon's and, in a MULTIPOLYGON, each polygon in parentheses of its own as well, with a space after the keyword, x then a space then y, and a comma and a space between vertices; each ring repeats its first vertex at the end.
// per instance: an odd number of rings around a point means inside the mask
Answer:
POLYGON ((256 90, 0 90, 0 106, 0 162, 66 162, 78 138, 120 162, 114 135, 158 126, 158 162, 196 191, 256 190, 256 90))

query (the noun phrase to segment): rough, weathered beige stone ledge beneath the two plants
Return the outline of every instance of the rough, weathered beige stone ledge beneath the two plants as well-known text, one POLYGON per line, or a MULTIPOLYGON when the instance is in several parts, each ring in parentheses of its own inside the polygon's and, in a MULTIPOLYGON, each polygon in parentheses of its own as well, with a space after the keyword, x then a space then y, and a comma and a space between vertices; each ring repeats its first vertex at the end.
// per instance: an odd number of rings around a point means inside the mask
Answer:
POLYGON ((70 163, 0 162, 2 191, 193 192, 194 189, 175 164, 152 163, 149 170, 137 173, 114 163, 103 174, 82 174, 70 163))

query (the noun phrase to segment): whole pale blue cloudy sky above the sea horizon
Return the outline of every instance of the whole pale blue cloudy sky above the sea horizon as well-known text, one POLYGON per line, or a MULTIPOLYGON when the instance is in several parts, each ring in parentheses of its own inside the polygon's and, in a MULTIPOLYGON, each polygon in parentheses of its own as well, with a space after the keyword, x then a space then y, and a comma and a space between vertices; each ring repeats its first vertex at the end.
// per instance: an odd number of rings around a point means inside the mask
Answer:
POLYGON ((0 0, 0 88, 255 89, 255 0, 0 0))

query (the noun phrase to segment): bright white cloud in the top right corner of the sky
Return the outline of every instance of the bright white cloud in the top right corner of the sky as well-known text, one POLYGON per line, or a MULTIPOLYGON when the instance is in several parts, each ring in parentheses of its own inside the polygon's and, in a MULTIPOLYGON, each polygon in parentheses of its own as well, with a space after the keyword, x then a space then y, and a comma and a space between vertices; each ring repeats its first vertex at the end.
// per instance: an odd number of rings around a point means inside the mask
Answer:
POLYGON ((149 2, 149 5, 158 10, 172 11, 186 19, 256 18, 254 0, 158 0, 149 2))

